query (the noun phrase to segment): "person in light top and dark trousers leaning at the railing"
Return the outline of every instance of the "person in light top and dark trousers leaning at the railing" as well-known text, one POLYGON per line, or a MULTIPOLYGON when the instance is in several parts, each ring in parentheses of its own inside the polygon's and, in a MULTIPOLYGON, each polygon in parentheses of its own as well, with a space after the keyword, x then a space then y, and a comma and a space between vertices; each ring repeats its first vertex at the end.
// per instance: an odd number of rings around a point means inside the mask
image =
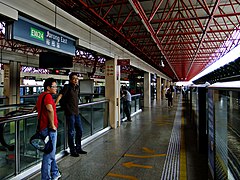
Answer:
POLYGON ((127 116, 127 121, 131 122, 131 101, 132 101, 132 95, 127 90, 127 88, 124 86, 122 88, 122 98, 123 98, 123 111, 127 116))

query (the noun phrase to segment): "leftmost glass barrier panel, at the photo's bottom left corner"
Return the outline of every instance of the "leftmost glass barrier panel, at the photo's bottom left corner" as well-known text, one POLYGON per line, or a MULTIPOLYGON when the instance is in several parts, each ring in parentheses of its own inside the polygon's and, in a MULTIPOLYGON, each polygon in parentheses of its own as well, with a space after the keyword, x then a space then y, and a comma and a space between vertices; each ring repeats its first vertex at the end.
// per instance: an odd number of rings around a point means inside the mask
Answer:
POLYGON ((0 179, 15 173, 15 122, 0 124, 0 179))

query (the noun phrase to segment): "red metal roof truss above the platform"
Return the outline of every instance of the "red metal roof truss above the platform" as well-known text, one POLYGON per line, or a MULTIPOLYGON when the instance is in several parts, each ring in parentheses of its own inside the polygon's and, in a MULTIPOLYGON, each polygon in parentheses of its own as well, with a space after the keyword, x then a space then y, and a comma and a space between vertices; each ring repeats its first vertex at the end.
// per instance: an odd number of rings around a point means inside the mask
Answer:
POLYGON ((239 44, 239 0, 50 1, 176 80, 239 44))

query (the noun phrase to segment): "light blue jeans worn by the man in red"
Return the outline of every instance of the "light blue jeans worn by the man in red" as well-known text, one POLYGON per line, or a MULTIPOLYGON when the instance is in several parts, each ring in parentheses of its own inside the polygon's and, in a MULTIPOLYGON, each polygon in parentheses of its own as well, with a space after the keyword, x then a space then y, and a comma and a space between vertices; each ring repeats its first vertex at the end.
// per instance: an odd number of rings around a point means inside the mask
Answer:
POLYGON ((48 128, 41 131, 43 135, 47 135, 48 132, 52 139, 53 151, 49 154, 45 153, 43 154, 41 168, 42 180, 53 179, 59 175, 58 166, 55 159, 57 145, 57 131, 48 131, 48 128))

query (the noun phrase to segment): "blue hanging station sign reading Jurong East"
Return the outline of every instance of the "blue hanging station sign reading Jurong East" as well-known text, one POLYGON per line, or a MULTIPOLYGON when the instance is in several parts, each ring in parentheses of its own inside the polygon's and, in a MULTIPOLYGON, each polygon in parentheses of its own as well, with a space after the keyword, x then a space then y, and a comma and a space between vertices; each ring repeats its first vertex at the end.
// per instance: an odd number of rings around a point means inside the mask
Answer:
POLYGON ((13 39, 46 49, 75 55, 75 40, 48 27, 19 17, 13 24, 13 39))

